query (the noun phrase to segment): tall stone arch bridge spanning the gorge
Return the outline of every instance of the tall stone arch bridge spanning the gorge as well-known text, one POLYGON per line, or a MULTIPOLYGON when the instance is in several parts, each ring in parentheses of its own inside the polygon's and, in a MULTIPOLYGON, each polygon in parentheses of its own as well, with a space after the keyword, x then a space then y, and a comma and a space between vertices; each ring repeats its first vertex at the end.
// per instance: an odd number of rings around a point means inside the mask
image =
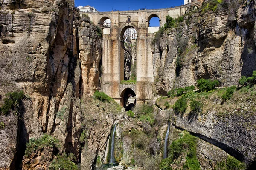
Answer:
POLYGON ((103 28, 102 45, 102 90, 124 105, 125 91, 134 91, 136 100, 142 102, 151 99, 153 77, 153 54, 151 52, 151 41, 159 27, 149 27, 152 17, 158 17, 160 26, 166 23, 166 16, 173 18, 182 16, 189 8, 198 8, 201 0, 177 6, 175 8, 145 9, 136 11, 111 11, 80 13, 88 14, 91 21, 103 28), (103 27, 103 22, 110 19, 108 28, 103 27), (124 79, 124 40, 123 35, 127 28, 134 27, 137 31, 136 40, 136 85, 121 85, 124 79))

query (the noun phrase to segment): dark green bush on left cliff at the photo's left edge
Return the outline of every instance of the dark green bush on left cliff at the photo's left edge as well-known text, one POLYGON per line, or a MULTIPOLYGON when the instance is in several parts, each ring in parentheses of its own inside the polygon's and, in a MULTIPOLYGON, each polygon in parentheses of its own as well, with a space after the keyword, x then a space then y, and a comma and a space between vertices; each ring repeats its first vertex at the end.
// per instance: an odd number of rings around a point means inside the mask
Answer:
POLYGON ((6 94, 6 98, 4 99, 4 104, 0 107, 0 113, 6 115, 11 110, 14 110, 18 113, 18 109, 20 108, 20 102, 22 99, 25 99, 26 96, 24 95, 23 91, 20 92, 9 92, 6 94))

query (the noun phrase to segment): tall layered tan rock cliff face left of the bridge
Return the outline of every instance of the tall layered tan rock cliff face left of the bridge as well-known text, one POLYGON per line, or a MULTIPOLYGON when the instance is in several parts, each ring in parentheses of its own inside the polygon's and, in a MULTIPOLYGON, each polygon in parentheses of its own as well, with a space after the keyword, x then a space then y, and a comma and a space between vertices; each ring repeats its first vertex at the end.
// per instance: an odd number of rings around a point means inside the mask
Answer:
POLYGON ((27 95, 19 113, 0 116, 0 168, 19 168, 26 142, 43 133, 60 140, 60 152, 79 156, 86 124, 80 97, 99 87, 102 43, 96 27, 81 20, 73 0, 3 0, 0 41, 1 105, 7 92, 27 95))

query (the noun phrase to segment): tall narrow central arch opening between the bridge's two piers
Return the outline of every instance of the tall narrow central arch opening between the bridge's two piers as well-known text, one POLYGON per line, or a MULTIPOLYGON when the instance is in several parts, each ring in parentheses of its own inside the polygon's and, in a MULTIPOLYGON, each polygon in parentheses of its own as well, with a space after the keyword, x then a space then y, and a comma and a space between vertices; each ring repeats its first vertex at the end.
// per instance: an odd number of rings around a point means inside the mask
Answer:
POLYGON ((120 80, 136 81, 136 28, 124 26, 120 31, 120 39, 120 80))

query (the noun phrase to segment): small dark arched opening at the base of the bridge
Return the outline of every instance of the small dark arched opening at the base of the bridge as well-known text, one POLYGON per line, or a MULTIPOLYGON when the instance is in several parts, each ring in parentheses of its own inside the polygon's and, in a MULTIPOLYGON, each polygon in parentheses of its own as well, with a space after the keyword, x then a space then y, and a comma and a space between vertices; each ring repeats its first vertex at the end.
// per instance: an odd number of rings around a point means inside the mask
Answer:
POLYGON ((131 88, 125 88, 120 97, 120 105, 125 111, 131 110, 136 105, 136 94, 131 88))

